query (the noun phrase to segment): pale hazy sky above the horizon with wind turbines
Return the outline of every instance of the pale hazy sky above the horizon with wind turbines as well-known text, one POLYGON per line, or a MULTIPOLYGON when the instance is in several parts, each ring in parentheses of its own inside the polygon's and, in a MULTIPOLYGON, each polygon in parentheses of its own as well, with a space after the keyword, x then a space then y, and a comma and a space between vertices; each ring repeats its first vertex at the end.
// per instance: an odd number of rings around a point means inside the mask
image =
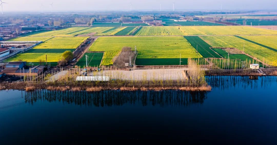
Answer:
POLYGON ((104 10, 274 10, 277 0, 2 0, 4 11, 104 11, 104 10), (43 4, 43 6, 41 6, 43 4))

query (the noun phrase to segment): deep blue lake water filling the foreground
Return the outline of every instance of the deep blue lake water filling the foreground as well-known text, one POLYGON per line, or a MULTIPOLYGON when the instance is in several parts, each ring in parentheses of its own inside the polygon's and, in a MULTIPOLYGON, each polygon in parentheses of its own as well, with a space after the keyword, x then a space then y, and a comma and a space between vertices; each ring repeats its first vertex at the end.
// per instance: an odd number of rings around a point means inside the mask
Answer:
POLYGON ((0 91, 0 144, 277 144, 277 77, 206 77, 211 92, 0 91))

